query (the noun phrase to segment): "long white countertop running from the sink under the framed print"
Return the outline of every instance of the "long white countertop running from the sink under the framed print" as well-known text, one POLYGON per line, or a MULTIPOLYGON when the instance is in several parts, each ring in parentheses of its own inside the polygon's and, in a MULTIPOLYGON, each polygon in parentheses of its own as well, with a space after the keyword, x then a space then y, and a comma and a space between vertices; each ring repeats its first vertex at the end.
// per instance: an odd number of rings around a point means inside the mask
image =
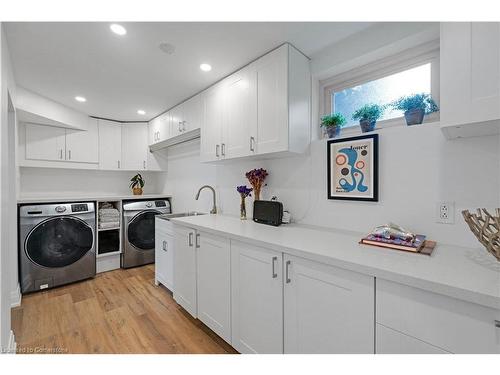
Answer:
POLYGON ((484 248, 437 244, 431 256, 358 244, 362 233, 298 224, 272 227, 224 215, 175 224, 500 309, 500 262, 484 248))

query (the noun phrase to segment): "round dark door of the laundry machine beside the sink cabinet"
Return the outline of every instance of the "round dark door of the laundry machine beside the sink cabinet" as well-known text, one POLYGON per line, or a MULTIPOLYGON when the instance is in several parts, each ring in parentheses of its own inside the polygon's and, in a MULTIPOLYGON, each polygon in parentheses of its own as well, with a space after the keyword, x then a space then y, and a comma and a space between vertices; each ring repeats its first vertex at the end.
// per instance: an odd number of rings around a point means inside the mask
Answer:
POLYGON ((142 211, 135 215, 127 227, 128 242, 139 250, 155 248, 155 216, 160 211, 142 211))

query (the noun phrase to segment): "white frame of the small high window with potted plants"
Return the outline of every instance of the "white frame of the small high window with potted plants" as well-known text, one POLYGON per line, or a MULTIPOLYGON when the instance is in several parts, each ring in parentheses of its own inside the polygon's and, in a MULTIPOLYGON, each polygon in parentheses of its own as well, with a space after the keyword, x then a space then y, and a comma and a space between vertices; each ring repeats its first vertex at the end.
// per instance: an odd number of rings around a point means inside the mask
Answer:
MULTIPOLYGON (((403 51, 359 68, 340 73, 320 82, 320 95, 323 96, 320 114, 322 116, 332 113, 332 94, 342 90, 362 85, 380 78, 400 73, 427 63, 431 64, 431 95, 439 106, 440 102, 440 61, 439 42, 431 42, 403 51)), ((439 111, 424 117, 424 123, 439 122, 439 111)), ((377 128, 383 129, 392 126, 406 126, 404 117, 396 117, 377 121, 377 128)), ((342 129, 343 134, 361 133, 359 126, 349 126, 342 129)))

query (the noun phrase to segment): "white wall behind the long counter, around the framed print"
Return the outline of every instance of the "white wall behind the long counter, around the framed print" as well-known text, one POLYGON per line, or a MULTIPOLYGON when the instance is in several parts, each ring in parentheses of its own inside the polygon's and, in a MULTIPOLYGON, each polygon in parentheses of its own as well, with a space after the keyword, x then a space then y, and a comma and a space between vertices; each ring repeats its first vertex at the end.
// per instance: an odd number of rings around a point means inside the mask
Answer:
MULTIPOLYGON (((463 246, 480 246, 463 222, 460 211, 466 208, 498 207, 500 187, 500 151, 498 137, 469 138, 446 141, 439 123, 387 128, 380 134, 380 200, 379 202, 349 202, 326 199, 326 143, 318 139, 318 78, 331 71, 327 61, 350 69, 366 64, 367 56, 386 57, 403 46, 420 44, 436 37, 436 24, 428 29, 401 25, 364 32, 349 42, 363 58, 349 54, 342 61, 334 52, 339 46, 313 57, 313 142, 308 155, 290 158, 233 161, 223 165, 199 162, 199 143, 171 149, 168 154, 168 174, 165 191, 174 196, 174 210, 198 209, 208 212, 209 194, 196 202, 196 190, 213 184, 218 191, 221 212, 239 213, 236 186, 248 184, 244 177, 252 168, 266 168, 270 174, 263 198, 277 195, 290 210, 292 217, 303 224, 343 228, 366 233, 374 226, 389 221, 409 230, 427 234, 439 242, 463 246), (399 30, 399 31, 398 31, 399 30), (396 33, 398 31, 398 34, 396 33), (395 34, 396 33, 396 34, 395 34), (388 38, 373 43, 373 35, 388 38), (334 59, 335 60, 332 60, 334 59), (347 58, 347 57, 346 57, 347 58), (455 224, 436 223, 439 201, 454 201, 455 224)), ((345 41, 340 46, 345 45, 345 41)), ((251 206, 251 200, 249 200, 251 206)), ((251 210, 250 210, 251 211, 251 210)))

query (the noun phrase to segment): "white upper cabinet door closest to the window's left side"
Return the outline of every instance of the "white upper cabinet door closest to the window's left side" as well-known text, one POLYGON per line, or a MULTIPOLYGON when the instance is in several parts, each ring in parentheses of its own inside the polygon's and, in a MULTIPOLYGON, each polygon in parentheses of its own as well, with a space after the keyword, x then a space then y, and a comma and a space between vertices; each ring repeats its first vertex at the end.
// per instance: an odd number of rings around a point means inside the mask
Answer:
POLYGON ((255 63, 257 72, 257 140, 259 154, 288 149, 288 46, 255 63))

